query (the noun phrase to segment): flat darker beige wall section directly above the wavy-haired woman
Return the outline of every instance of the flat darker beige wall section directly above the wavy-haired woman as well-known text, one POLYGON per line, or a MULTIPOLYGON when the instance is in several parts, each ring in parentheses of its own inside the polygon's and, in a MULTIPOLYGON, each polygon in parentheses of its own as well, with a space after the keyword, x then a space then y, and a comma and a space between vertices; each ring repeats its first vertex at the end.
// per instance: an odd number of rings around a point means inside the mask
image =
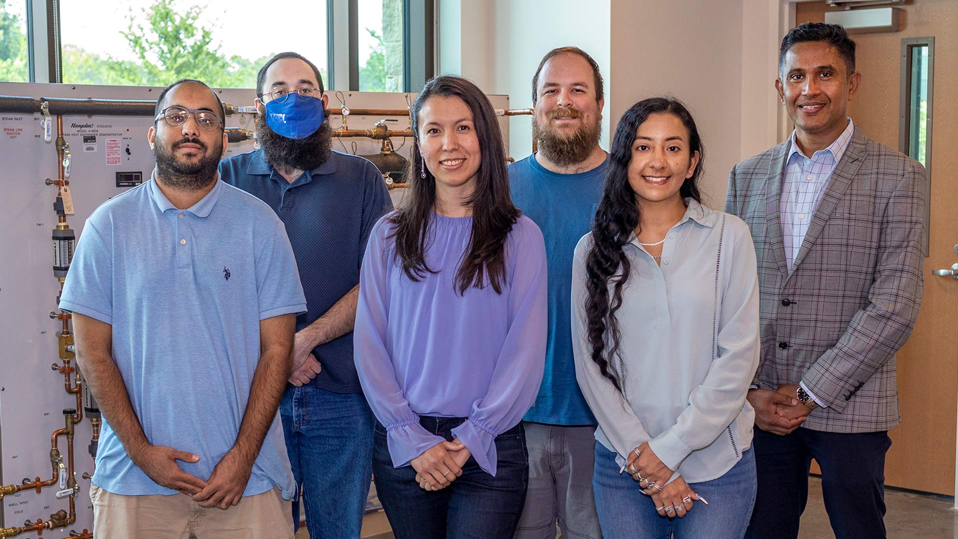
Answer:
POLYGON ((612 116, 658 95, 688 105, 705 145, 702 191, 720 207, 741 157, 741 2, 612 0, 612 12, 612 116))

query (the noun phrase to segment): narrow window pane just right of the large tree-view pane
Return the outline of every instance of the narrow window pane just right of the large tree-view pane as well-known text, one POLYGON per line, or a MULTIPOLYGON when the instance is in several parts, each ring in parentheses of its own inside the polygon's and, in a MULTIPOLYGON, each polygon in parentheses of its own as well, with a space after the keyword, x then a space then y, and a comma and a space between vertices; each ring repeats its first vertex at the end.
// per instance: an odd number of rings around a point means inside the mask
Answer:
POLYGON ((403 0, 358 0, 360 91, 405 91, 404 12, 403 0))

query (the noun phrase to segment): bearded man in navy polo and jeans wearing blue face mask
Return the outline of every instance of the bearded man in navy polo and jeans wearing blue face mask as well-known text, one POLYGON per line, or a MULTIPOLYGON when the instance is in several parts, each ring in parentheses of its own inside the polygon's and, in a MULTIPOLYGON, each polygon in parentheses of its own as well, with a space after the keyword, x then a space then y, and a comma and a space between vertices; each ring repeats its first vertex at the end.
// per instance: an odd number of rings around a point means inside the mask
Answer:
MULTIPOLYGON (((356 378, 353 322, 366 240, 393 204, 373 163, 331 151, 329 98, 312 62, 276 55, 260 69, 257 95, 260 149, 224 159, 219 173, 285 223, 306 293, 280 414, 309 536, 357 538, 375 419, 356 378)), ((293 521, 299 527, 298 501, 293 521)))

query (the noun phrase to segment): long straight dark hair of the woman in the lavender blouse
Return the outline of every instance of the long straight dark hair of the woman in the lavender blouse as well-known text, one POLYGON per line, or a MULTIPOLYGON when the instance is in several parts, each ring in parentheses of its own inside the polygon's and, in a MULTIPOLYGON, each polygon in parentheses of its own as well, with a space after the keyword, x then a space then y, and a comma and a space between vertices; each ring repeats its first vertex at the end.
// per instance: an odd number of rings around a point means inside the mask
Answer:
POLYGON ((446 75, 426 82, 413 104, 413 132, 417 142, 406 171, 409 201, 390 218, 395 225, 392 237, 396 238, 396 259, 413 281, 422 279, 426 272, 435 272, 426 266, 424 253, 436 203, 436 177, 422 165, 418 142, 420 111, 434 96, 457 97, 468 105, 482 159, 475 188, 467 201, 472 208, 472 233, 456 273, 456 289, 463 294, 469 287, 481 289, 489 284, 495 293, 502 293, 506 281, 506 238, 519 217, 519 210, 509 196, 506 149, 492 104, 475 84, 460 77, 446 75))

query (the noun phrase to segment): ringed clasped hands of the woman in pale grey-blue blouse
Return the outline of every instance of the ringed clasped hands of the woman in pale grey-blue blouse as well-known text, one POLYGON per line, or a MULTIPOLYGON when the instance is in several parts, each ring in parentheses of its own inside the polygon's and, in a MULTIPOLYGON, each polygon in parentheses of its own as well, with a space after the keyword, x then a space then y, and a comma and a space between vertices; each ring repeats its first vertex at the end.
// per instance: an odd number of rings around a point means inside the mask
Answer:
POLYGON ((660 516, 684 517, 692 510, 693 500, 700 500, 681 476, 666 484, 674 472, 655 455, 649 442, 643 442, 628 454, 626 470, 639 482, 642 492, 651 496, 655 512, 660 516))

